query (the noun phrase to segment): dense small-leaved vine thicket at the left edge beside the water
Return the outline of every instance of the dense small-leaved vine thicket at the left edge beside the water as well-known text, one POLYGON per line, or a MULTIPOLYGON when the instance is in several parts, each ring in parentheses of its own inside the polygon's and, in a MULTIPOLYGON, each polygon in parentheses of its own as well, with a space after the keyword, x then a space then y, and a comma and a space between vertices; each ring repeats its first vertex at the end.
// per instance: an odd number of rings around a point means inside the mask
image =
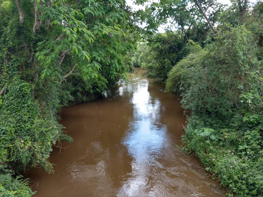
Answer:
POLYGON ((26 166, 43 166, 51 170, 49 152, 63 136, 62 126, 55 118, 48 120, 41 115, 40 106, 32 97, 32 88, 24 81, 13 80, 0 105, 0 162, 10 164, 16 171, 26 166))

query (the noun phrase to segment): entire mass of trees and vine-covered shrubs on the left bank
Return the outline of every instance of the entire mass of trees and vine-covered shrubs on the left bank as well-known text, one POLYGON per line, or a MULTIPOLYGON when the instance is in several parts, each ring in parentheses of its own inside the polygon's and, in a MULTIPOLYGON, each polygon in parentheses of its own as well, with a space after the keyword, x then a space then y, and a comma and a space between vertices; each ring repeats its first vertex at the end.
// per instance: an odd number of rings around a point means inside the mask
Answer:
POLYGON ((52 146, 72 141, 60 108, 126 77, 132 26, 122 1, 0 1, 0 196, 31 196, 30 167, 52 171, 52 146))

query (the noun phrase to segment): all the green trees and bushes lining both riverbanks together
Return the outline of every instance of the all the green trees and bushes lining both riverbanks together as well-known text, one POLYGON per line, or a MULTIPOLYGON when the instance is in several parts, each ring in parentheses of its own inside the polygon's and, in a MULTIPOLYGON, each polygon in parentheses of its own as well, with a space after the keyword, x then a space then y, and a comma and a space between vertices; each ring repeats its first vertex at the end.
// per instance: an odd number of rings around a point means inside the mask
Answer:
POLYGON ((59 110, 97 99, 130 62, 181 96, 182 149, 229 196, 263 196, 262 42, 261 1, 161 0, 132 13, 122 0, 0 0, 0 196, 34 193, 21 174, 52 171, 52 146, 72 141, 59 110), (167 21, 174 30, 155 33, 167 21))

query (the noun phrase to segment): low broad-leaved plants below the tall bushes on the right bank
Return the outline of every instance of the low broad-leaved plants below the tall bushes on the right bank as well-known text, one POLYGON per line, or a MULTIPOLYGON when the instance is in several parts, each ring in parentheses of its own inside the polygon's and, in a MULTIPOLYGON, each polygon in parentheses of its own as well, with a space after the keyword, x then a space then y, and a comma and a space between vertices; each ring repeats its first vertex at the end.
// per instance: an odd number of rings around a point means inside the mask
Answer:
POLYGON ((189 120, 185 128, 186 135, 182 137, 187 151, 194 151, 206 170, 212 171, 214 177, 229 188, 229 196, 233 196, 231 193, 235 196, 260 196, 263 191, 260 132, 241 132, 231 128, 195 129, 202 124, 198 117, 189 120))

